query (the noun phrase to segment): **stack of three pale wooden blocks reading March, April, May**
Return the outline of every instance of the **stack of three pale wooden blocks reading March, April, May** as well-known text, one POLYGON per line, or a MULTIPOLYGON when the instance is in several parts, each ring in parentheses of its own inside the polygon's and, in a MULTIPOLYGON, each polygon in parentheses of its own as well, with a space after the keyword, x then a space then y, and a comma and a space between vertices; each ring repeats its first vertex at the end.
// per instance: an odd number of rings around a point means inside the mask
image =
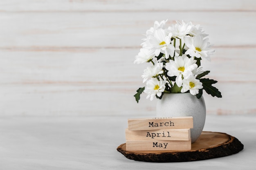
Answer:
POLYGON ((193 117, 128 119, 126 150, 191 150, 193 117))

